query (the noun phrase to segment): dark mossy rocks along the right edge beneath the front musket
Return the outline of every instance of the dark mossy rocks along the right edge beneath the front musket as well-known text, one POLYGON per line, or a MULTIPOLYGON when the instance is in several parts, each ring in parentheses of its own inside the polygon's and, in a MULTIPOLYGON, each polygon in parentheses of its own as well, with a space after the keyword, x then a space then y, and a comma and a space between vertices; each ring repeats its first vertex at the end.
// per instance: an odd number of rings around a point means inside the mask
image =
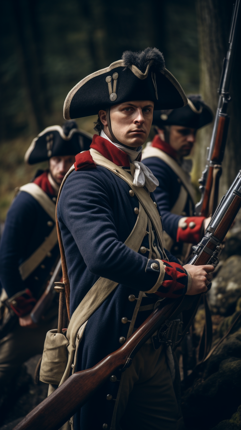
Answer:
MULTIPOLYGON (((229 231, 216 267, 208 300, 213 321, 213 345, 241 311, 241 214, 229 231)), ((195 318, 201 335, 204 309, 195 318)), ((241 318, 207 362, 183 384, 182 411, 187 430, 241 430, 241 318)))

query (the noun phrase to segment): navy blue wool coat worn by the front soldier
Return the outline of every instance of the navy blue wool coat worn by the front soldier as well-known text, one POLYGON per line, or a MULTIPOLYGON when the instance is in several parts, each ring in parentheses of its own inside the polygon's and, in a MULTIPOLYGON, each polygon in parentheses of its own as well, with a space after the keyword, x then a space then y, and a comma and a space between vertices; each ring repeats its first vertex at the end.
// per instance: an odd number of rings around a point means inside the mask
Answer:
MULTIPOLYGON (((71 286, 71 315, 99 276, 119 283, 88 320, 76 370, 92 367, 121 347, 119 338, 127 338, 130 326, 130 322, 123 324, 121 319, 131 320, 136 306, 136 300, 129 301, 129 295, 137 298, 140 290, 151 289, 160 273, 146 271, 148 252, 137 253, 124 245, 136 223, 134 208, 139 208, 136 195, 131 197, 129 190, 125 181, 97 166, 72 172, 59 198, 57 216, 71 286)), ((151 198, 154 201, 153 194, 151 198)), ((148 235, 142 246, 149 247, 148 235)), ((157 300, 157 296, 142 298, 141 305, 157 300)), ((135 326, 139 327, 150 313, 151 310, 140 312, 135 326)), ((121 379, 118 369, 114 375, 117 381, 107 381, 75 415, 75 430, 101 429, 104 423, 110 428, 114 401, 108 401, 106 396, 111 394, 116 399, 121 379)))

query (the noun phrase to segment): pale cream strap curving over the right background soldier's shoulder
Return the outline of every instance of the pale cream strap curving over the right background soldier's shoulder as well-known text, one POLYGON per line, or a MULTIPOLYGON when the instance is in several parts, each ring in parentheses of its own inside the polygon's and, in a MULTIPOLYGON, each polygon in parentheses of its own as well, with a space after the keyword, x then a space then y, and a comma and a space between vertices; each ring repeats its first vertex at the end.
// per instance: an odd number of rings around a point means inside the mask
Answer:
POLYGON ((166 154, 164 151, 161 151, 161 149, 155 148, 153 146, 145 147, 142 152, 142 160, 145 160, 146 158, 150 157, 160 158, 160 160, 163 160, 167 164, 167 166, 169 166, 173 170, 173 172, 176 173, 176 175, 180 178, 182 184, 188 191, 188 194, 191 196, 193 203, 195 203, 195 189, 190 182, 189 175, 184 172, 184 170, 182 170, 179 164, 175 160, 173 160, 170 155, 166 154))

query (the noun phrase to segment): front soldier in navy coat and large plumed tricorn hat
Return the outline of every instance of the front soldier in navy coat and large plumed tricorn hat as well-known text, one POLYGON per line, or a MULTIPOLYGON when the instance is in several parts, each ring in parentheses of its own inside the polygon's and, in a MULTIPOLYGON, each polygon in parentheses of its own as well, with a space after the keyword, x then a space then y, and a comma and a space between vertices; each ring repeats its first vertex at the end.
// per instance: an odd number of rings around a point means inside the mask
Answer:
MULTIPOLYGON (((212 266, 182 267, 164 250, 153 194, 158 181, 141 163, 153 110, 185 104, 155 48, 124 52, 65 100, 66 119, 99 115, 99 135, 90 151, 76 156, 57 203, 71 316, 61 383, 70 371, 88 369, 124 344, 158 299, 207 289, 212 266)), ((160 345, 150 338, 124 373, 116 369, 74 415, 74 429, 176 429, 175 365, 160 345)))

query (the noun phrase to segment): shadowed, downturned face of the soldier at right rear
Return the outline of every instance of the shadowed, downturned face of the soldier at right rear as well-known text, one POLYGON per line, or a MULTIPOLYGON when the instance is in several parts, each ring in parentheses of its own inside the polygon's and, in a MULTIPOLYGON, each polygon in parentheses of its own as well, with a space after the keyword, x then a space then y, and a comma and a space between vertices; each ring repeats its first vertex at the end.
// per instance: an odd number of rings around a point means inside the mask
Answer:
POLYGON ((181 157, 186 157, 196 140, 196 132, 188 127, 170 126, 169 144, 181 157))

